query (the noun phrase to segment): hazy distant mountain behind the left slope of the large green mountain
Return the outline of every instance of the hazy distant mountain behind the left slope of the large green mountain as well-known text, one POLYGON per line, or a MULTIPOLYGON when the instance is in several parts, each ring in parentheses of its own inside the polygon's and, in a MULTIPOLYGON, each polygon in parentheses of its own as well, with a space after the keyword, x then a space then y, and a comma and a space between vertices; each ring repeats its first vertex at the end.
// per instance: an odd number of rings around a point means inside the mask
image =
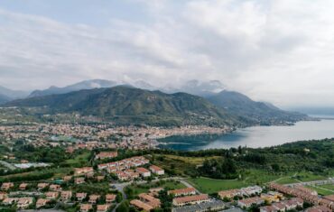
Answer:
POLYGON ((105 79, 91 79, 78 82, 76 84, 58 88, 55 86, 51 86, 45 90, 34 90, 29 95, 29 97, 42 97, 52 94, 66 94, 72 91, 78 91, 82 89, 92 89, 92 88, 111 88, 117 85, 116 81, 105 80, 105 79))

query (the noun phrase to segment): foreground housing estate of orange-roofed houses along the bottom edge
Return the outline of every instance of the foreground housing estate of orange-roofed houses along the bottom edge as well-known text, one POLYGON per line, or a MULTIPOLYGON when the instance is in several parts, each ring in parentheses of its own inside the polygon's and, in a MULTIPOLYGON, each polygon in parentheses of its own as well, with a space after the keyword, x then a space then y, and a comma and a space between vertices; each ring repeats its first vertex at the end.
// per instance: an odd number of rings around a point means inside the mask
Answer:
POLYGON ((321 196, 304 187, 304 184, 333 185, 334 179, 287 185, 269 182, 209 194, 182 177, 169 175, 148 156, 103 162, 117 158, 117 151, 98 152, 92 158, 97 161, 96 166, 74 168, 59 178, 5 180, 1 183, 0 209, 80 212, 149 212, 169 208, 172 212, 331 212, 334 209, 334 195, 321 196), (143 189, 144 185, 150 186, 143 189), (131 192, 131 188, 136 189, 131 192))

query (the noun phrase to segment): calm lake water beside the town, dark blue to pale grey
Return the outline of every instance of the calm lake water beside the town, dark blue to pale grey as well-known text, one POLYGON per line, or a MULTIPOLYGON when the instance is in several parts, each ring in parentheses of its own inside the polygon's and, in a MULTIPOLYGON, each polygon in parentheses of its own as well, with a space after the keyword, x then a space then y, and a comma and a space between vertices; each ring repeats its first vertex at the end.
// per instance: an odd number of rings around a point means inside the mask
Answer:
POLYGON ((253 126, 224 135, 173 136, 161 141, 162 148, 204 150, 214 148, 265 147, 302 140, 334 137, 334 120, 299 122, 292 126, 253 126))

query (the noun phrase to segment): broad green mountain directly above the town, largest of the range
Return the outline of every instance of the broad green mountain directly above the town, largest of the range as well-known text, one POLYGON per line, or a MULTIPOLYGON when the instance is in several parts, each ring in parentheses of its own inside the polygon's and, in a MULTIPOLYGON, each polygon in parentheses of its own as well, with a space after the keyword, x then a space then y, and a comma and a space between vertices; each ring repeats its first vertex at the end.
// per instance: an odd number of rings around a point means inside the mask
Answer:
POLYGON ((124 86, 30 97, 5 106, 47 106, 51 113, 77 112, 118 124, 242 124, 237 115, 227 114, 225 109, 213 106, 203 97, 124 86))

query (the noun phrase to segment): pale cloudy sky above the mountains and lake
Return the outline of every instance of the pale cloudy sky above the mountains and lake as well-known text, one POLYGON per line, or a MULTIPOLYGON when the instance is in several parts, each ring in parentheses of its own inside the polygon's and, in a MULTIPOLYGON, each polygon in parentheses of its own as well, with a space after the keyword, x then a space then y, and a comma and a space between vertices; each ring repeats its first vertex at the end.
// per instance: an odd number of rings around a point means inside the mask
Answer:
POLYGON ((0 85, 220 80, 277 106, 334 106, 332 0, 2 0, 0 85))

